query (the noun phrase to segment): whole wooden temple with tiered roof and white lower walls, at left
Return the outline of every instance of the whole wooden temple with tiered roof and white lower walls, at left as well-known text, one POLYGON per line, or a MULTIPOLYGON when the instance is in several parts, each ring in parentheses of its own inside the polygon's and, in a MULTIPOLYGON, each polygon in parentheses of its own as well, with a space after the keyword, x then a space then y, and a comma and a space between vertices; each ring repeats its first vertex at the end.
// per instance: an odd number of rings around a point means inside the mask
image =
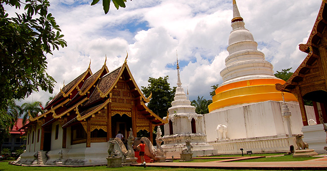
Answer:
MULTIPOLYGON (((149 100, 136 84, 127 57, 122 66, 112 71, 106 63, 95 73, 89 66, 60 89, 44 113, 30 116, 30 122, 23 127, 27 144, 21 161, 47 165, 106 164, 108 141, 118 131, 128 137, 132 129, 137 137, 140 130, 152 133, 155 126, 167 123, 145 105, 149 100)), ((152 140, 152 134, 149 135, 152 140)))

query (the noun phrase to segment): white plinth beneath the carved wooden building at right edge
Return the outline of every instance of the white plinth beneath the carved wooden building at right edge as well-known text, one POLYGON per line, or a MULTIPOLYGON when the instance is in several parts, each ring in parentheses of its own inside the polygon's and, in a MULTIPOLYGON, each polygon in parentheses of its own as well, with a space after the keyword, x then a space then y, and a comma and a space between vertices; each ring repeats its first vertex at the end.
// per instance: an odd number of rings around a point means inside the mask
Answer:
POLYGON ((308 143, 310 149, 314 149, 320 154, 326 153, 324 149, 326 146, 326 133, 323 124, 304 126, 302 132, 303 142, 308 143))

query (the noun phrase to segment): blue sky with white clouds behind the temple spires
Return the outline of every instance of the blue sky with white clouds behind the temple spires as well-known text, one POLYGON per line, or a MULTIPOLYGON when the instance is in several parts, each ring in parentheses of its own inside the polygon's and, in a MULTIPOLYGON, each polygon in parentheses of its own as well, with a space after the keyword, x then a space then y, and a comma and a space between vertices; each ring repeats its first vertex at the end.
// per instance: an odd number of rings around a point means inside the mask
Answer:
MULTIPOLYGON (((68 46, 47 54, 48 73, 55 78, 54 92, 84 72, 90 59, 96 72, 107 56, 113 70, 128 65, 139 87, 148 77, 169 75, 176 86, 176 50, 181 81, 189 99, 211 99, 210 86, 221 84, 231 28, 232 0, 127 0, 126 8, 111 4, 104 14, 102 1, 51 0, 55 17, 68 46)), ((240 15, 258 42, 258 50, 274 71, 297 68, 306 57, 298 44, 306 43, 321 0, 236 0, 240 15)), ((54 94, 55 94, 54 93, 54 94)), ((25 101, 47 102, 47 92, 33 93, 25 101)), ((24 102, 24 101, 23 101, 24 102)))

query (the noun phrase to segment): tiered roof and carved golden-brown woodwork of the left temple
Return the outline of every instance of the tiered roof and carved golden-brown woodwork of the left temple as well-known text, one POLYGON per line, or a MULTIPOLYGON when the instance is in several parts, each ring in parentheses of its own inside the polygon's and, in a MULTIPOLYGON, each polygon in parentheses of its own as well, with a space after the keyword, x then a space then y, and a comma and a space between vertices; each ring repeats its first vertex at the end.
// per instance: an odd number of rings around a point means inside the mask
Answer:
MULTIPOLYGON (((51 127, 59 121, 62 148, 66 148, 67 143, 86 143, 86 147, 90 147, 93 142, 107 142, 115 137, 117 128, 120 129, 119 123, 126 125, 126 130, 132 128, 134 137, 140 130, 152 133, 155 126, 166 123, 145 105, 147 102, 149 98, 141 93, 126 60, 121 67, 110 72, 105 63, 94 74, 89 66, 60 89, 43 114, 34 118, 30 116, 30 123, 23 128, 36 129, 35 124, 39 124, 42 128, 40 150, 50 150, 44 147, 47 145, 46 133, 57 134, 51 127)), ((152 134, 149 138, 152 140, 152 134)))

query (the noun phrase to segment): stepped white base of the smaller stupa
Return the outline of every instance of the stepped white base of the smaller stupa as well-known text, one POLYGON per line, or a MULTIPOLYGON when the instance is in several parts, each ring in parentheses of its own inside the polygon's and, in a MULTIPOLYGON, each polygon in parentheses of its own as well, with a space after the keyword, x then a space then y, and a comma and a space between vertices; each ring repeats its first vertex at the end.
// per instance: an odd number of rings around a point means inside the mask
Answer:
POLYGON ((213 145, 206 142, 206 135, 204 134, 174 134, 166 135, 162 137, 164 145, 162 149, 165 155, 170 158, 174 156, 175 158, 180 157, 182 149, 186 146, 185 141, 190 140, 192 146, 192 157, 197 156, 211 156, 217 155, 218 151, 213 147, 213 145))

